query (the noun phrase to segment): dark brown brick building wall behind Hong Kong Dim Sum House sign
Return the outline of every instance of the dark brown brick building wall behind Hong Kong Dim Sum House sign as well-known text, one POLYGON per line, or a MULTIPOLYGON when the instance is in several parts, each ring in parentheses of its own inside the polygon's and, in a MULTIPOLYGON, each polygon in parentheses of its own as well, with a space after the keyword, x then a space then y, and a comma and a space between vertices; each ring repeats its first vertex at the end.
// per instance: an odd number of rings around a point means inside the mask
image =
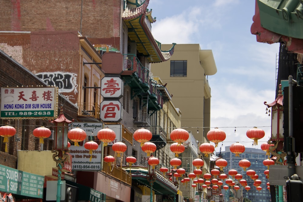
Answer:
MULTIPOLYGON (((40 79, 33 75, 26 68, 15 62, 9 55, 0 51, 0 87, 9 86, 27 86, 27 85, 43 85, 46 86, 40 79)), ((59 95, 58 105, 63 104, 64 114, 69 120, 77 118, 77 108, 69 102, 64 96, 59 95)), ((25 119, 25 120, 7 120, 0 119, 0 126, 10 124, 15 127, 16 134, 9 137, 8 153, 5 153, 5 144, 3 137, 0 138, 0 164, 16 168, 17 167, 17 150, 35 150, 40 149, 40 144, 36 141, 32 131, 42 124, 52 127, 52 124, 46 119, 25 119), (23 136, 22 136, 23 134, 23 136), (20 141, 18 140, 20 138, 20 141), (37 145, 38 144, 38 145, 37 145), (38 146, 38 147, 37 147, 38 146)), ((45 141, 44 149, 52 150, 53 141, 45 141)))

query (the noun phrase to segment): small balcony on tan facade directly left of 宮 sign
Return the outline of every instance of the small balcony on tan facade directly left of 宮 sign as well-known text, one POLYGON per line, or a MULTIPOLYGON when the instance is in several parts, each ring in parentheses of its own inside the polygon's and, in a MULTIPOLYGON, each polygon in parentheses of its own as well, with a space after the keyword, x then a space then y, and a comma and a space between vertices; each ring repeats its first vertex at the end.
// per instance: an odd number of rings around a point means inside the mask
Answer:
POLYGON ((99 121, 100 105, 98 103, 82 102, 78 103, 79 121, 99 121))

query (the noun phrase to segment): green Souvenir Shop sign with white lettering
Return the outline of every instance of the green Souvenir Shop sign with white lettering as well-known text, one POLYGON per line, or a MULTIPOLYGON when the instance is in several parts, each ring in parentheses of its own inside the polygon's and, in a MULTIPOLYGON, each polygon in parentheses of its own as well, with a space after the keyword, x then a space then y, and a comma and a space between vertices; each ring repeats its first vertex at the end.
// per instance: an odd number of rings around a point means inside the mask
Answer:
POLYGON ((0 165, 0 191, 43 198, 44 176, 0 165))

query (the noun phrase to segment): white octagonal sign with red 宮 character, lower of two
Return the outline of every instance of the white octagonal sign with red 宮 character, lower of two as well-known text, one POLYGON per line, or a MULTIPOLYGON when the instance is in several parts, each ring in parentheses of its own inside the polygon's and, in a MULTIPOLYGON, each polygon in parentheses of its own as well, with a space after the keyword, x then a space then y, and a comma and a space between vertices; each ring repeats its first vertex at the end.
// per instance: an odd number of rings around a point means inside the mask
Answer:
POLYGON ((100 117, 104 122, 121 121, 122 120, 122 109, 119 101, 103 101, 100 104, 100 117))

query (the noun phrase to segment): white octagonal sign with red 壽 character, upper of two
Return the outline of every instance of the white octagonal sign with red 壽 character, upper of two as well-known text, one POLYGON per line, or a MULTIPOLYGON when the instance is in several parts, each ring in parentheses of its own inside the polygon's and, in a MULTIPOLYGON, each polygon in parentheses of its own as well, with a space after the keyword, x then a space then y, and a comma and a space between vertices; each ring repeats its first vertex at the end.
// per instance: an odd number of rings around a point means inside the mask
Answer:
POLYGON ((120 77, 103 77, 101 80, 101 95, 104 98, 121 98, 123 81, 120 77))

